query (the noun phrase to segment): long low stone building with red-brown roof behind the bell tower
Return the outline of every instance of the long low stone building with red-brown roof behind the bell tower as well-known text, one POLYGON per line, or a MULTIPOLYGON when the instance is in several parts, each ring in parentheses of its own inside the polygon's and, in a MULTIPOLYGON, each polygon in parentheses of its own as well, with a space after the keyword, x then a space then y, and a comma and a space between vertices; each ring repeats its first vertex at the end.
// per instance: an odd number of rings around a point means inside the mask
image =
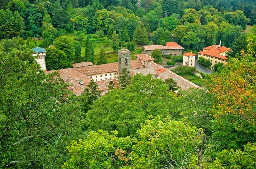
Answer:
POLYGON ((163 55, 181 56, 182 50, 184 49, 182 46, 180 46, 176 42, 167 42, 166 46, 148 45, 143 47, 144 47, 144 51, 142 52, 142 54, 147 54, 147 55, 151 55, 155 49, 160 49, 163 55))

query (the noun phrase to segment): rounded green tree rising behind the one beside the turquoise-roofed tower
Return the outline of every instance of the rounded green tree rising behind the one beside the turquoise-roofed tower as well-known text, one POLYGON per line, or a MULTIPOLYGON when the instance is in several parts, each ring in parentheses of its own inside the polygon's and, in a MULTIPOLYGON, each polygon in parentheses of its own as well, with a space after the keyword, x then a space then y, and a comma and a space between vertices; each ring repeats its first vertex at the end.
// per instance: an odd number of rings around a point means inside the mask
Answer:
POLYGON ((73 42, 67 36, 61 36, 56 38, 53 45, 55 45, 55 48, 64 51, 68 59, 72 60, 74 58, 73 42))

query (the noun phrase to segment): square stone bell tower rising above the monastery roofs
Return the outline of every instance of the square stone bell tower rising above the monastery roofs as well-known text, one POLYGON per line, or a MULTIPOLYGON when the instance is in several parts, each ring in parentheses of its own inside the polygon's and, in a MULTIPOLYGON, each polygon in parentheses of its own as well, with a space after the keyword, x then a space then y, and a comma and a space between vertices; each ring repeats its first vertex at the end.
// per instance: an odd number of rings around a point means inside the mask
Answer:
POLYGON ((131 71, 131 51, 128 49, 118 50, 118 74, 122 72, 123 68, 131 71))

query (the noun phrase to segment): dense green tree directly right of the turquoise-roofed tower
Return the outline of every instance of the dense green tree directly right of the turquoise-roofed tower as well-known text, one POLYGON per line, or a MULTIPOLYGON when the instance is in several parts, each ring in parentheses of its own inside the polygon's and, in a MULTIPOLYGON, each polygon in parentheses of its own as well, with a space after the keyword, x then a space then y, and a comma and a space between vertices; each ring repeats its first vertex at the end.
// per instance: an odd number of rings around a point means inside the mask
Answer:
POLYGON ((47 70, 58 70, 62 68, 71 68, 70 60, 64 51, 55 47, 46 48, 47 56, 45 58, 47 70))

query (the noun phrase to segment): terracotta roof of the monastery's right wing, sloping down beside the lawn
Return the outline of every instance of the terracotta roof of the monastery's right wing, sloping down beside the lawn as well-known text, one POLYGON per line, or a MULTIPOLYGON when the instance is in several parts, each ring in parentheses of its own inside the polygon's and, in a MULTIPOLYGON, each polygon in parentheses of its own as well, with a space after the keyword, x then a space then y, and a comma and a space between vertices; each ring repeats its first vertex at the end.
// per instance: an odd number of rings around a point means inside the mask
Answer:
POLYGON ((190 87, 200 88, 198 85, 195 85, 194 83, 188 81, 187 79, 185 79, 167 69, 166 69, 166 71, 158 73, 157 75, 165 80, 169 79, 169 78, 174 79, 177 82, 177 84, 181 90, 186 90, 186 89, 189 89, 190 87))

